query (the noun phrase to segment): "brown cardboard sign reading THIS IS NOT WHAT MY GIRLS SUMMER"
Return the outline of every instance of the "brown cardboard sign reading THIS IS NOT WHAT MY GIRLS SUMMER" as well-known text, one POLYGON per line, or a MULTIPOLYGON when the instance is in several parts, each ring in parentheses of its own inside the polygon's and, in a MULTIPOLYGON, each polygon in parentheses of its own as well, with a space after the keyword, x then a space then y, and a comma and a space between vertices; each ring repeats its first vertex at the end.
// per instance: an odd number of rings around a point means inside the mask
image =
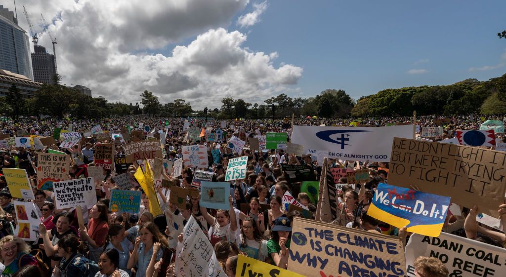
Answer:
POLYGON ((70 156, 37 153, 37 189, 52 190, 53 182, 68 180, 70 156))

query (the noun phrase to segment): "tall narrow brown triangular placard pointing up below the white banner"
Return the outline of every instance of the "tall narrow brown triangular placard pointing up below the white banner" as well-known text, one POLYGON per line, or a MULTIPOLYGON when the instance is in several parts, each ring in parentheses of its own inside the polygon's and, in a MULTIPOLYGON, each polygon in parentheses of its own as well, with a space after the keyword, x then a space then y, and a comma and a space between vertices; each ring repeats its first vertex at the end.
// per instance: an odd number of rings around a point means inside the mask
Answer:
POLYGON ((328 169, 327 158, 323 158, 321 168, 318 204, 316 206, 316 220, 331 223, 337 217, 337 199, 334 177, 328 169))

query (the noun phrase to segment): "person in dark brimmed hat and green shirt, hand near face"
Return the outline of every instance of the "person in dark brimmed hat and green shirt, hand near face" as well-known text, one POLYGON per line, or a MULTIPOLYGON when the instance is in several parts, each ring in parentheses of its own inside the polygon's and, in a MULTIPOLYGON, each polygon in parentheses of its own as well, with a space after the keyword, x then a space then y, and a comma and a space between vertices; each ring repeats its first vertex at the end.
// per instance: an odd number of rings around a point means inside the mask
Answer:
POLYGON ((272 239, 267 242, 267 253, 271 256, 274 265, 285 268, 288 263, 288 250, 291 242, 291 222, 285 216, 274 220, 272 239))

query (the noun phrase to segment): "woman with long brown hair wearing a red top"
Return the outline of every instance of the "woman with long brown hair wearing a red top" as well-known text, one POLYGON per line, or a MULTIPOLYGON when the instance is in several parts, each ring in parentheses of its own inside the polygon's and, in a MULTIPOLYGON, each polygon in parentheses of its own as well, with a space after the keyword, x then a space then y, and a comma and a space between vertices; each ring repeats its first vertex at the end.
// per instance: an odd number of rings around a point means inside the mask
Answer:
POLYGON ((98 262, 109 233, 107 207, 102 203, 97 203, 90 210, 90 217, 88 228, 84 225, 79 226, 79 234, 81 239, 88 243, 90 259, 98 262))

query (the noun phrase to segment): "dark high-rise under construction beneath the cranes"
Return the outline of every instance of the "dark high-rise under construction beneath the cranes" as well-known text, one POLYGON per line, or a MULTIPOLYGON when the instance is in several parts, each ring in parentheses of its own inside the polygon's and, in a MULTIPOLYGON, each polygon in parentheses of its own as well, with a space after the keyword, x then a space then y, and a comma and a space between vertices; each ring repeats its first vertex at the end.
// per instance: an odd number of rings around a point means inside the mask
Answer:
POLYGON ((42 45, 33 47, 35 53, 32 53, 33 80, 39 83, 54 84, 55 56, 46 52, 42 45))

